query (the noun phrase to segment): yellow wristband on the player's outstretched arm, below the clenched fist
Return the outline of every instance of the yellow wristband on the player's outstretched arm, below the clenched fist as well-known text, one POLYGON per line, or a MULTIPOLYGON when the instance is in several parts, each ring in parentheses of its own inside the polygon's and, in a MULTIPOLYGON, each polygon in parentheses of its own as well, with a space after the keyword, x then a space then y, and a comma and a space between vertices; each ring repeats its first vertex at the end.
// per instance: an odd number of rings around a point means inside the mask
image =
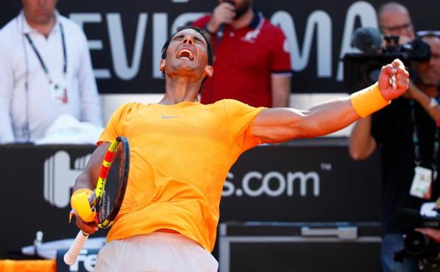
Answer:
POLYGON ((391 103, 391 100, 385 100, 377 83, 364 90, 353 93, 350 99, 353 109, 355 109, 355 112, 362 118, 367 117, 373 112, 377 112, 391 103))

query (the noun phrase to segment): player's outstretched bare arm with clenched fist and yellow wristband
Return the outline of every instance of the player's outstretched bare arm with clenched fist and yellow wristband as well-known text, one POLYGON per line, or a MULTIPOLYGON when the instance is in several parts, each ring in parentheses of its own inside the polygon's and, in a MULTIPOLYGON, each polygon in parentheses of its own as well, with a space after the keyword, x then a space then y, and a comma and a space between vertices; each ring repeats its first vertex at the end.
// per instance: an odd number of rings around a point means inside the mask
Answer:
POLYGON ((382 67, 379 80, 351 97, 324 102, 309 110, 271 108, 258 115, 253 134, 264 143, 279 143, 293 138, 309 138, 343 129, 360 117, 368 116, 389 104, 408 89, 408 71, 396 59, 382 67))

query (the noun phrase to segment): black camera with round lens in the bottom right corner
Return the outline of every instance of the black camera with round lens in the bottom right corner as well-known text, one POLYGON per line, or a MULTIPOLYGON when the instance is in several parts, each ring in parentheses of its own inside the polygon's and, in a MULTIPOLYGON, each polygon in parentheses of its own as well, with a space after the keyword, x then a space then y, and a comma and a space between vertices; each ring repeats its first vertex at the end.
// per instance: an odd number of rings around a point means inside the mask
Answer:
MULTIPOLYGON (((417 210, 402 208, 398 216, 413 223, 414 227, 434 227, 440 230, 440 215, 420 215, 417 210)), ((413 259, 419 262, 419 268, 426 272, 440 271, 440 244, 427 235, 415 230, 403 236, 403 249, 394 254, 394 261, 403 262, 413 259)))

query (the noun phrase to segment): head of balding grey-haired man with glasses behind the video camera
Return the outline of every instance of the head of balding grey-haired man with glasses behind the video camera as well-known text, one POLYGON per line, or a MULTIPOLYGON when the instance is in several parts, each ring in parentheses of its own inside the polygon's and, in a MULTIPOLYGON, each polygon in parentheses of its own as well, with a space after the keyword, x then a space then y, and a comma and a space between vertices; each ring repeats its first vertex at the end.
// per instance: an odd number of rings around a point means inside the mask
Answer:
POLYGON ((379 28, 384 36, 399 36, 399 43, 404 44, 415 38, 410 13, 405 6, 389 2, 377 11, 379 28))

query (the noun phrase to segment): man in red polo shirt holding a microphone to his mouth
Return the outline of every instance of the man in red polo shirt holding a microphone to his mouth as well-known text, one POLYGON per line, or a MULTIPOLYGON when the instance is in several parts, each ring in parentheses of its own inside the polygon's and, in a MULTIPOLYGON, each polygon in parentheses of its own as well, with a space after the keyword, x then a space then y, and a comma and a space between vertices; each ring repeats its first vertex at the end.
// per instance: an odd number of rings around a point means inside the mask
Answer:
POLYGON ((219 0, 196 20, 212 40, 214 70, 201 102, 232 98, 254 107, 288 107, 291 58, 283 31, 252 8, 252 0, 219 0))

